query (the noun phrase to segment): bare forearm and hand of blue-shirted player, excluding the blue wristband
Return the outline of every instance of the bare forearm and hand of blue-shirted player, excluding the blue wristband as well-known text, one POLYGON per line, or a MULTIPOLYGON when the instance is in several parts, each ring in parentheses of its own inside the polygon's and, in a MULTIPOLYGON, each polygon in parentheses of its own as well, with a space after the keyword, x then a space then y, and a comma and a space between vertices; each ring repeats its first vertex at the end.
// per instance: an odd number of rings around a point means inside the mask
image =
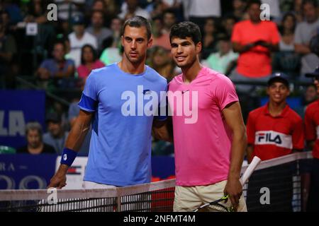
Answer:
MULTIPOLYGON (((77 121, 69 132, 69 136, 67 136, 67 142, 65 144, 66 148, 74 150, 75 152, 79 152, 86 133, 89 131, 93 115, 93 112, 80 110, 79 117, 77 117, 77 121)), ((55 175, 50 180, 49 186, 47 187, 56 187, 57 189, 62 189, 62 187, 66 185, 66 174, 68 168, 68 165, 61 164, 55 175)))

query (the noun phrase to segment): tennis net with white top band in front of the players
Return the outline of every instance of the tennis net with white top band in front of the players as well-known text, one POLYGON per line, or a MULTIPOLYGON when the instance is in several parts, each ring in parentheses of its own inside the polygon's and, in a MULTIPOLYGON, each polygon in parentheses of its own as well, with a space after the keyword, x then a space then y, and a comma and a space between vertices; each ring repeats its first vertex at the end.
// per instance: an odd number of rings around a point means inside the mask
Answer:
MULTIPOLYGON (((261 162, 244 186, 248 211, 301 211, 303 165, 311 158, 305 152, 261 162)), ((3 190, 0 212, 171 212, 174 186, 169 179, 111 189, 3 190)))

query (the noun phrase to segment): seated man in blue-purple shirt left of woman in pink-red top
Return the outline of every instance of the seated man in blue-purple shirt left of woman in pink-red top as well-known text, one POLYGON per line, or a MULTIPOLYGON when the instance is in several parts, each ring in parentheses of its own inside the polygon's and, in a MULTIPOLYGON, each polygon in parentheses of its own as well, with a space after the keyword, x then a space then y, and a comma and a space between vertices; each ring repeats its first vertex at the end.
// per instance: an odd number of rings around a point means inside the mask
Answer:
POLYGON ((52 55, 53 58, 43 61, 37 71, 44 88, 47 87, 47 81, 49 80, 74 76, 74 61, 65 59, 65 44, 63 42, 54 44, 52 55))

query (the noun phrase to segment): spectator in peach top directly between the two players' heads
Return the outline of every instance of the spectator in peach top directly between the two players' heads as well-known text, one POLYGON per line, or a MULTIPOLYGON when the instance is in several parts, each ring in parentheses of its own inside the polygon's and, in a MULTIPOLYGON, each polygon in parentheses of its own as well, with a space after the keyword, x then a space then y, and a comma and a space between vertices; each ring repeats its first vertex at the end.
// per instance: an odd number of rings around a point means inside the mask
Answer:
POLYGON ((153 18, 152 34, 153 34, 153 46, 163 47, 165 49, 171 49, 171 43, 169 42, 169 33, 163 32, 163 20, 161 17, 153 18))

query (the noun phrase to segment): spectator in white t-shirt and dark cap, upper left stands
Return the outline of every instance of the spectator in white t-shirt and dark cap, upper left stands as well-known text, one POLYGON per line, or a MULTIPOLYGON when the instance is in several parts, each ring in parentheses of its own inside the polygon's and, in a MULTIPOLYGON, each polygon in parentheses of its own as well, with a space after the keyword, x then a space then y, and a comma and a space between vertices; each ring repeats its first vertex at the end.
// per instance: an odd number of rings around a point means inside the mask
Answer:
POLYGON ((81 63, 81 48, 84 44, 91 44, 94 49, 97 49, 97 41, 96 37, 84 30, 84 17, 82 15, 74 16, 72 24, 74 32, 69 34, 69 44, 71 47, 69 57, 74 60, 75 66, 79 66, 81 63))

